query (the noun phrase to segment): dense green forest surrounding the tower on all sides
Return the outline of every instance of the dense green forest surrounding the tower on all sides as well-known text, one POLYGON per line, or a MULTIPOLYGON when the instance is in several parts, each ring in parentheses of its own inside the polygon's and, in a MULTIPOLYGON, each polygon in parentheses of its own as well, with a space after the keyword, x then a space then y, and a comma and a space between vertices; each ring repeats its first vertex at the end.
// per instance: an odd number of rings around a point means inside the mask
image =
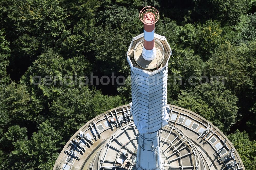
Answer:
POLYGON ((173 50, 168 103, 211 121, 246 169, 256 169, 255 0, 1 0, 0 169, 52 169, 82 125, 131 102, 126 52, 143 32, 138 14, 149 5, 160 13, 155 32, 173 50), (126 81, 60 83, 91 72, 126 81), (192 75, 194 85, 185 85, 192 75), (34 76, 56 83, 35 85, 34 76), (225 83, 199 83, 200 76, 225 83))

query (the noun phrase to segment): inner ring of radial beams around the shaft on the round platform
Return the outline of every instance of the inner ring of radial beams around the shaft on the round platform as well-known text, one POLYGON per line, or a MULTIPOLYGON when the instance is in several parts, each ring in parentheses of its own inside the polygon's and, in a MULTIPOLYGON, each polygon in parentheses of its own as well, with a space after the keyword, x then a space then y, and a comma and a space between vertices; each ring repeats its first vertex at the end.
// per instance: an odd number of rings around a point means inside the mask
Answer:
MULTIPOLYGON (((169 124, 161 128, 160 150, 161 166, 163 169, 191 169, 199 170, 199 157, 196 148, 190 139, 178 128, 169 124), (180 166, 182 162, 182 166, 180 166)), ((99 152, 102 161, 95 163, 98 169, 139 170, 136 168, 138 130, 131 122, 117 130, 106 140, 99 152), (128 163, 129 162, 129 163, 128 163), (128 164, 127 164, 128 163, 128 164), (114 169, 114 168, 113 168, 114 169)))

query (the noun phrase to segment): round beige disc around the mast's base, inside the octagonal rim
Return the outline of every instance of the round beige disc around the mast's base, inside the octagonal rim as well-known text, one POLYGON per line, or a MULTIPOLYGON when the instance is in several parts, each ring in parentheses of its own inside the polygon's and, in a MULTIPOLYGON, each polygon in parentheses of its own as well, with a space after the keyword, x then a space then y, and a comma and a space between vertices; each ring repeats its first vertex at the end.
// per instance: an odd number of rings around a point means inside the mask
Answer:
POLYGON ((140 40, 134 48, 133 57, 135 62, 140 67, 145 69, 159 68, 159 66, 162 64, 164 60, 165 51, 164 51, 163 44, 160 41, 155 40, 156 57, 153 60, 148 61, 148 60, 145 60, 142 56, 143 43, 144 43, 144 40, 140 40))

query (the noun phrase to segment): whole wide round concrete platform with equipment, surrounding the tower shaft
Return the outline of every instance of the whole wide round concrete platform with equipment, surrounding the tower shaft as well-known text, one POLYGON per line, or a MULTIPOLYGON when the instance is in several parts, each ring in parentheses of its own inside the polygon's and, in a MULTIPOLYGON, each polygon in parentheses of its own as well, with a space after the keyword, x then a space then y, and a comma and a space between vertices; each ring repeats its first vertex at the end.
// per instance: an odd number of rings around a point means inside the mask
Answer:
MULTIPOLYGON (((167 113, 168 125, 160 130, 162 169, 245 169, 232 143, 208 120, 174 105, 167 105, 167 113)), ((106 111, 70 138, 53 169, 122 170, 128 161, 132 169, 137 134, 130 105, 106 111)))

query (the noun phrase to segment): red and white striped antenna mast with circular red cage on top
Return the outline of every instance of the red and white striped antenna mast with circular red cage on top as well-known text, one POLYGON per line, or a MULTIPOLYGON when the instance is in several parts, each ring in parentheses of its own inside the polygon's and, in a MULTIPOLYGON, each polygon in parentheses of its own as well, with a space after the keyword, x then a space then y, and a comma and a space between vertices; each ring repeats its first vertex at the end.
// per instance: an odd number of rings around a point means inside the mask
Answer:
POLYGON ((146 6, 140 11, 140 20, 144 23, 144 44, 142 57, 145 60, 153 60, 156 56, 155 48, 155 23, 159 19, 156 8, 146 6))

